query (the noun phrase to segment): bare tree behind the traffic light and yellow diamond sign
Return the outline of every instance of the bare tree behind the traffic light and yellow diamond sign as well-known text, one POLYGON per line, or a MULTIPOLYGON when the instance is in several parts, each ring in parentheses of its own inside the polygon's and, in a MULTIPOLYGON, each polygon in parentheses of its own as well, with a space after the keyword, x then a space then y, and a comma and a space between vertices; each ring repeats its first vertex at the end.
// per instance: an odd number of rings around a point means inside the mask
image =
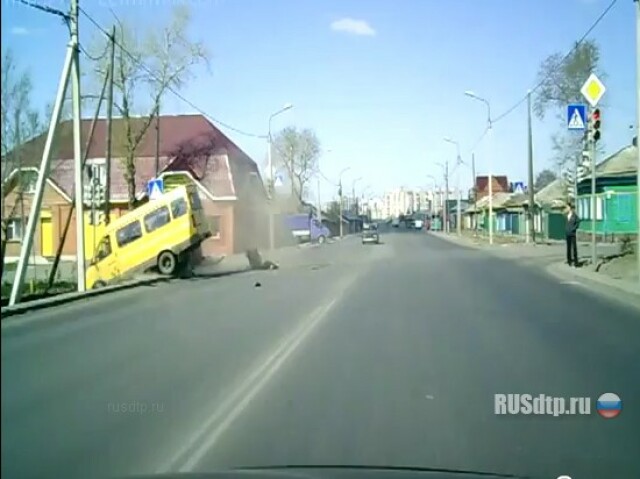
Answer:
POLYGON ((541 86, 534 98, 533 109, 540 119, 553 113, 562 125, 552 137, 554 159, 559 170, 568 165, 574 166, 581 156, 582 136, 567 131, 565 116, 568 104, 584 102, 580 89, 591 73, 596 73, 601 79, 605 77, 600 70, 600 47, 593 40, 576 43, 569 55, 550 55, 538 69, 541 86))

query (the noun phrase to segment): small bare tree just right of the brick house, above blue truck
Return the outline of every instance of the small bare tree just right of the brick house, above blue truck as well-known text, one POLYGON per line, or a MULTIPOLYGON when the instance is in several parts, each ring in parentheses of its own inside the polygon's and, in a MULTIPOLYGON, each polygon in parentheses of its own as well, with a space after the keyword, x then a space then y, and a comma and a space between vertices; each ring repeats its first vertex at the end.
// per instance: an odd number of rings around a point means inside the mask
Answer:
POLYGON ((318 137, 310 129, 285 128, 274 139, 274 153, 275 163, 284 167, 291 181, 291 196, 302 204, 309 181, 318 169, 318 137))

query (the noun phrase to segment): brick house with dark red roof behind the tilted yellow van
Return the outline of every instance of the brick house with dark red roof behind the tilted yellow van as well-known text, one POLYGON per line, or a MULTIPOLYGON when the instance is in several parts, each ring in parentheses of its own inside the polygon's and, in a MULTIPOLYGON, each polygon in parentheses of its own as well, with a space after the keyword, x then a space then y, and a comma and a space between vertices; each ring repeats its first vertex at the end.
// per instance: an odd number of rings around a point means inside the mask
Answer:
MULTIPOLYGON (((135 122, 140 124, 145 121, 147 121, 145 118, 135 119, 135 122)), ((82 121, 83 143, 88 138, 91 123, 91 120, 82 121)), ((116 217, 128 211, 128 188, 122 162, 124 149, 120 141, 123 137, 123 127, 122 120, 114 119, 110 205, 112 215, 116 217)), ((44 142, 45 135, 24 145, 21 150, 23 171, 33 173, 34 167, 39 167, 44 142)), ((101 179, 101 182, 106 182, 105 120, 96 122, 93 140, 88 149, 87 171, 91 170, 93 175, 101 179)), ((139 201, 146 199, 147 182, 156 176, 156 151, 158 152, 158 172, 165 178, 168 187, 178 182, 191 181, 200 189, 206 214, 215 229, 214 236, 203 244, 203 254, 232 254, 243 251, 247 246, 262 247, 267 244, 267 194, 258 167, 246 153, 204 116, 161 116, 157 129, 156 120, 152 121, 136 151, 135 186, 136 198, 139 201)), ((47 191, 51 190, 51 193, 45 194, 41 215, 43 221, 39 222, 36 231, 36 238, 43 235, 47 235, 47 238, 42 237, 34 243, 34 253, 45 257, 50 256, 51 251, 55 252, 60 245, 70 211, 71 198, 74 196, 73 141, 70 121, 61 123, 58 128, 49 180, 47 191), (49 235, 51 238, 48 238, 49 235), (46 245, 46 248, 42 245, 46 245)), ((88 174, 85 174, 85 184, 87 183, 88 174)), ((10 211, 15 212, 18 209, 13 203, 19 196, 24 201, 25 195, 5 196, 6 211, 3 211, 3 218, 10 211)), ((25 210, 25 208, 20 209, 25 210)), ((28 214, 28 207, 26 211, 28 214)), ((71 256, 76 253, 75 224, 73 217, 63 245, 63 255, 71 256)), ((89 233, 87 232, 87 235, 89 233)), ((85 239, 85 243, 90 243, 89 239, 85 239)), ((8 238, 7 256, 17 256, 20 244, 20 235, 8 238)), ((89 255, 90 244, 86 245, 86 250, 89 255)))

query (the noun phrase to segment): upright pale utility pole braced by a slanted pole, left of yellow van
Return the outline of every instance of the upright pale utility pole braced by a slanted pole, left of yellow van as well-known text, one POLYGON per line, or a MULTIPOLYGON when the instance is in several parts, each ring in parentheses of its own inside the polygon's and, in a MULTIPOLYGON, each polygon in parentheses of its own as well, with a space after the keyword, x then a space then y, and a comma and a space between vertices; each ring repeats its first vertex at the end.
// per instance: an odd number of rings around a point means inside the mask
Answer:
POLYGON ((71 0, 70 14, 71 47, 73 61, 71 63, 72 99, 73 99, 73 157, 75 163, 76 193, 76 265, 78 276, 78 292, 85 290, 85 248, 84 248, 84 198, 82 169, 82 105, 80 104, 80 46, 78 40, 78 0, 71 0))

